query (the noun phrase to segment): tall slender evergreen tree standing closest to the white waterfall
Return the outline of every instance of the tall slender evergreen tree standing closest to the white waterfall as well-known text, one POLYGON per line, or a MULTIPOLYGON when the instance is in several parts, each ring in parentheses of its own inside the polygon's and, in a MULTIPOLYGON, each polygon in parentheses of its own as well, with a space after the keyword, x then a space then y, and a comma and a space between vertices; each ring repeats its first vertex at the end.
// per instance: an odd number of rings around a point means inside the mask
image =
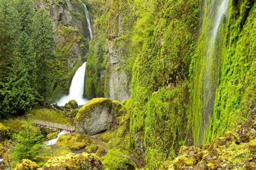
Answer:
POLYGON ((36 55, 37 90, 44 96, 50 95, 55 63, 55 41, 51 20, 44 9, 33 17, 32 39, 36 55))

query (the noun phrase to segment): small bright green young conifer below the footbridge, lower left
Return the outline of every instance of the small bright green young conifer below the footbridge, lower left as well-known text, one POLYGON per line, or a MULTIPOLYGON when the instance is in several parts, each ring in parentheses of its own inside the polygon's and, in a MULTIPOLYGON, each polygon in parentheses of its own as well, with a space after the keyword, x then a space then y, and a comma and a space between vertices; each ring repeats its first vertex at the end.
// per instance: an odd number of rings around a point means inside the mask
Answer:
POLYGON ((22 159, 37 161, 38 155, 43 148, 42 137, 31 130, 28 122, 24 122, 24 125, 25 128, 23 131, 14 134, 15 141, 12 142, 12 152, 10 152, 13 166, 22 159))

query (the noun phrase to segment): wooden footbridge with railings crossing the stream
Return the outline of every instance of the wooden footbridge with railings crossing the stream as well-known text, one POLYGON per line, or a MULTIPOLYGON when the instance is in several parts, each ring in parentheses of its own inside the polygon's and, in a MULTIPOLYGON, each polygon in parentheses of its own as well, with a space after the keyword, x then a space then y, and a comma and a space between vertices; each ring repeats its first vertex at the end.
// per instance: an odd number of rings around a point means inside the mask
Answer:
POLYGON ((65 132, 70 132, 70 133, 75 131, 75 126, 41 121, 41 120, 37 120, 37 119, 33 119, 33 125, 35 125, 39 128, 52 129, 52 130, 57 130, 57 131, 65 131, 65 132))

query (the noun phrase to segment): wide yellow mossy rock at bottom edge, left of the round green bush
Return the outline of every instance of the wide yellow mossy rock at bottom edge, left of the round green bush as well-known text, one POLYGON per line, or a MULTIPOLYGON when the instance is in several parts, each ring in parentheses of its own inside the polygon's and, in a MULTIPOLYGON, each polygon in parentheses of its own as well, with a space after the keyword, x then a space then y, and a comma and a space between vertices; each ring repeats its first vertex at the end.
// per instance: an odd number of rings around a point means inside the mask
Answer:
POLYGON ((95 154, 69 153, 49 159, 44 169, 103 169, 102 161, 95 154))

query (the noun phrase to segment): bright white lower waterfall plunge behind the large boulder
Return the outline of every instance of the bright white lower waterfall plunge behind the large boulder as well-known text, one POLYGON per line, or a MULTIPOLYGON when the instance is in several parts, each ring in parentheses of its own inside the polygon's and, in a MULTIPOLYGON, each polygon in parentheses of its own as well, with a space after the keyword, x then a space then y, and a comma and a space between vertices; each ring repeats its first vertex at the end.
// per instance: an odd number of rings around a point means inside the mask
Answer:
POLYGON ((65 103, 68 103, 70 100, 76 100, 78 105, 84 105, 88 102, 86 98, 83 98, 84 94, 84 79, 85 79, 85 68, 86 62, 83 63, 81 67, 78 68, 69 88, 69 95, 63 96, 57 102, 59 106, 64 106, 65 103))

